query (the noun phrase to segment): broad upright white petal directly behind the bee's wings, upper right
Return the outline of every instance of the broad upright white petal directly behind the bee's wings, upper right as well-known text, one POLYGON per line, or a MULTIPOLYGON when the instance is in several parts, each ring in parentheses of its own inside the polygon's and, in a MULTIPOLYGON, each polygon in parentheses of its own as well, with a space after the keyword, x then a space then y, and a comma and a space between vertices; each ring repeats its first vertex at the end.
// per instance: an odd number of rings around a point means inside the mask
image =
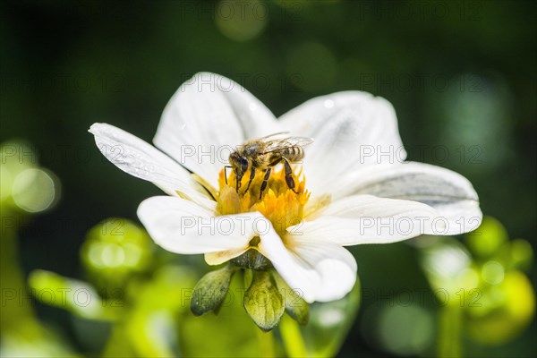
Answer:
POLYGON ((406 157, 394 108, 369 93, 347 91, 313 98, 282 115, 281 121, 292 132, 315 140, 304 159, 313 192, 324 191, 350 168, 406 157))

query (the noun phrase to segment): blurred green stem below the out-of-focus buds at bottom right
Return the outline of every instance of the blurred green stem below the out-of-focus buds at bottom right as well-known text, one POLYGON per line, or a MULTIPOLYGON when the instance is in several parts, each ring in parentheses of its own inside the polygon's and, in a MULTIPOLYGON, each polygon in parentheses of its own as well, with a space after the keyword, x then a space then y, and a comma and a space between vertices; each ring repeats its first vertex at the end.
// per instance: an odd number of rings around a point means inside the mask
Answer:
POLYGON ((439 358, 463 355, 461 346, 462 307, 447 304, 439 311, 439 358))

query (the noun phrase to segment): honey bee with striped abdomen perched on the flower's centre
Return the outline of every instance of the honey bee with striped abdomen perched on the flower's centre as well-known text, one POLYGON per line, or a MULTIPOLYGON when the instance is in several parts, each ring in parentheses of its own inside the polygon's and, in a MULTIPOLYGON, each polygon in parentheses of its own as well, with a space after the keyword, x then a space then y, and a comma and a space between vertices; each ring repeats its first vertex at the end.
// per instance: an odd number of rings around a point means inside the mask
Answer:
POLYGON ((261 195, 267 188, 268 178, 273 166, 284 164, 286 171, 286 183, 289 189, 294 190, 293 171, 291 163, 296 163, 304 158, 303 146, 311 144, 313 140, 306 137, 292 137, 289 132, 270 134, 257 140, 246 141, 229 155, 229 166, 225 166, 227 183, 227 168, 232 168, 236 178, 236 191, 241 188, 243 175, 250 170, 250 181, 244 192, 248 192, 250 184, 258 170, 265 172, 260 188, 261 195))

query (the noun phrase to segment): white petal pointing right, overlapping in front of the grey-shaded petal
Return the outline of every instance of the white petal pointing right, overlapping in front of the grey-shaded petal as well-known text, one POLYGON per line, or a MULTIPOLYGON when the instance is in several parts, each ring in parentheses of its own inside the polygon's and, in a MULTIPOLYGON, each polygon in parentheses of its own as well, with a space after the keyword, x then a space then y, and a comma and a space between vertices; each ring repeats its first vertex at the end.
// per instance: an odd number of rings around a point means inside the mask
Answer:
POLYGON ((428 205, 412 200, 354 195, 331 203, 287 230, 311 241, 355 245, 395 243, 420 234, 446 234, 446 221, 428 205))

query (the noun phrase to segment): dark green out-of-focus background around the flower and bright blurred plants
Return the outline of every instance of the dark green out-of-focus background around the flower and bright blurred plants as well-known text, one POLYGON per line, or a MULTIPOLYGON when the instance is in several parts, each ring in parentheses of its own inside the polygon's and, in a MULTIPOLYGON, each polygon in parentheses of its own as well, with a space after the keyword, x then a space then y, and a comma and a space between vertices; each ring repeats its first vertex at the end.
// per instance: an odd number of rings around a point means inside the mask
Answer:
MULTIPOLYGON (((4 1, 0 12, 0 142, 26 141, 22 161, 56 183, 46 210, 17 219, 22 280, 35 269, 83 279, 90 228, 107 217, 137 222, 141 200, 160 192, 109 164, 87 130, 107 122, 150 141, 167 100, 200 71, 238 81, 275 115, 340 90, 388 98, 409 159, 465 175, 483 212, 535 248, 535 2, 4 1)), ((434 352, 441 318, 421 249, 352 251, 362 305, 341 356, 434 352), (409 292, 410 309, 394 303, 409 292), (405 337, 416 317, 419 337, 405 337), (401 342, 376 335, 382 321, 401 342)), ((535 286, 535 268, 529 277, 535 286)), ((91 351, 67 311, 35 306, 75 351, 91 351)), ((465 334, 465 354, 530 356, 536 334, 535 320, 498 345, 465 334)))

